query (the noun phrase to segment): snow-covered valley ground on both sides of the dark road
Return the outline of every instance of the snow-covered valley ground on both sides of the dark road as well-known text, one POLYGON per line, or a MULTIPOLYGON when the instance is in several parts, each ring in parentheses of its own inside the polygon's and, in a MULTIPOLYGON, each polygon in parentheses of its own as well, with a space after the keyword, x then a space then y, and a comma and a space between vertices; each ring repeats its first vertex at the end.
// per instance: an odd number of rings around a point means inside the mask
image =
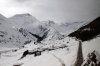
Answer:
MULTIPOLYGON (((87 58, 88 53, 96 50, 98 52, 97 59, 100 61, 100 37, 93 39, 91 41, 83 42, 82 49, 83 49, 83 57, 84 59, 87 58)), ((47 42, 45 42, 47 43, 47 42)), ((56 40, 50 44, 38 44, 35 45, 34 42, 25 45, 25 48, 18 49, 18 51, 13 52, 9 50, 8 52, 1 53, 0 55, 0 66, 13 66, 13 65, 21 65, 21 66, 73 66, 76 57, 77 57, 77 50, 78 50, 78 41, 67 37, 62 40, 56 40), (66 40, 66 41, 65 41, 66 40), (70 40, 70 41, 69 41, 70 40), (67 43, 68 42, 68 43, 67 43), (38 47, 42 46, 43 48, 51 48, 52 45, 55 47, 60 47, 62 44, 68 46, 66 48, 59 48, 52 51, 44 51, 40 56, 34 56, 34 54, 27 55, 23 59, 19 58, 22 56, 23 52, 28 50, 35 50, 38 47), (33 49, 34 48, 34 49, 33 49)), ((10 48, 11 49, 11 48, 10 48)), ((4 49, 1 49, 2 51, 4 49)), ((12 49, 13 50, 13 49, 12 49)))

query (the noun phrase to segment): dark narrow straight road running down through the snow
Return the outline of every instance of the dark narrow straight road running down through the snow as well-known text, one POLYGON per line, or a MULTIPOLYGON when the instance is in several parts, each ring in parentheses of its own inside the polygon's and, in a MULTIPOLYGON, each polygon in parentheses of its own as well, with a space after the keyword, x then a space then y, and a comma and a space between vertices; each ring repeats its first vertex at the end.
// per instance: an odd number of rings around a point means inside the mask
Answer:
POLYGON ((79 41, 79 47, 77 52, 77 58, 74 66, 81 66, 83 63, 83 54, 82 54, 82 42, 79 41))

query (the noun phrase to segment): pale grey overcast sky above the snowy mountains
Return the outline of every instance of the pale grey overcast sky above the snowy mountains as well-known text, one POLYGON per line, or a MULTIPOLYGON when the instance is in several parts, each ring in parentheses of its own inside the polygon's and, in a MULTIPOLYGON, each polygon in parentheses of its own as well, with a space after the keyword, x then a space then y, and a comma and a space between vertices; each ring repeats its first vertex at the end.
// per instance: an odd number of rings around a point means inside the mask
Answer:
POLYGON ((30 13, 40 21, 92 21, 100 16, 100 0, 0 0, 0 13, 30 13))

